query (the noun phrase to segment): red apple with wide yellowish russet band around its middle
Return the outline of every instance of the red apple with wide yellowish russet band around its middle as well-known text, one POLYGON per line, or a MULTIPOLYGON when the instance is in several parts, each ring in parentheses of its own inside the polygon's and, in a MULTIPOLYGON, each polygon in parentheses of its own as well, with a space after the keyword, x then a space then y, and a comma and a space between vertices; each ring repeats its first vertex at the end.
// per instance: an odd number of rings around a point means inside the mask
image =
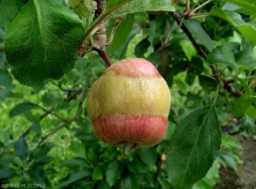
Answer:
POLYGON ((110 146, 154 146, 166 135, 171 93, 148 60, 120 60, 90 88, 87 110, 96 136, 110 146))

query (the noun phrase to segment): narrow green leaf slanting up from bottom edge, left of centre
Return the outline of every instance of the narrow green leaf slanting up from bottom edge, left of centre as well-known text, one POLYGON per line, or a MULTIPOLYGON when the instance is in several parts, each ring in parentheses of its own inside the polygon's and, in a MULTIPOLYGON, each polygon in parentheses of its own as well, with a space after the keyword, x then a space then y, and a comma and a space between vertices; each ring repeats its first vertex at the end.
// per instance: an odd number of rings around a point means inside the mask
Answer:
POLYGON ((90 171, 87 169, 82 170, 71 170, 69 174, 64 179, 60 180, 57 189, 67 188, 67 186, 72 186, 72 184, 78 180, 81 180, 90 175, 90 171))

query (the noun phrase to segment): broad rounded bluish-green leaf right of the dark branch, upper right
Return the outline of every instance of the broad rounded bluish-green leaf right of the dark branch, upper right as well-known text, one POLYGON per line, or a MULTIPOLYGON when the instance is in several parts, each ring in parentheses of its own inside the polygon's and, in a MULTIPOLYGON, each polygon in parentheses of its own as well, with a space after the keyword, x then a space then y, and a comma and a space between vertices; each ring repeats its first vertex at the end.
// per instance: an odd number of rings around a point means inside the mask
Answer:
POLYGON ((232 68, 238 69, 234 55, 224 46, 216 47, 208 55, 208 63, 212 64, 225 64, 232 68))

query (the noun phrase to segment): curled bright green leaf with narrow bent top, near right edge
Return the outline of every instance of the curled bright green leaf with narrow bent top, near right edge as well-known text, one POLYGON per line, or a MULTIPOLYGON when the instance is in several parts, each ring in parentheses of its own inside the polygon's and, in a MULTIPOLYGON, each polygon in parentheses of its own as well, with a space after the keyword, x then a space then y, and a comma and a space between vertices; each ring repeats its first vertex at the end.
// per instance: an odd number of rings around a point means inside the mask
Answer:
POLYGON ((251 92, 247 86, 247 83, 240 77, 236 77, 236 78, 244 87, 245 93, 241 94, 241 96, 233 103, 233 105, 231 106, 230 112, 233 113, 234 116, 239 117, 239 116, 243 116, 247 112, 249 106, 252 103, 252 99, 251 99, 251 92))

